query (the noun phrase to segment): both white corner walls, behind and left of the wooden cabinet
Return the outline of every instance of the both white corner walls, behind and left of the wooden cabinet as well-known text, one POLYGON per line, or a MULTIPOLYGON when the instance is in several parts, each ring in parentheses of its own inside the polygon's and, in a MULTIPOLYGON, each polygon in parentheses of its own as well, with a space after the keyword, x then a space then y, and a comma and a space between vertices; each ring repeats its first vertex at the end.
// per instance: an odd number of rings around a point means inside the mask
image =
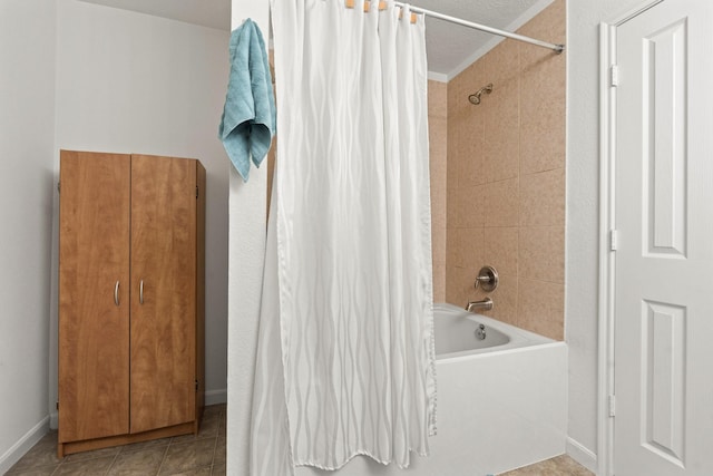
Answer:
POLYGON ((0 2, 0 474, 46 433, 57 399, 60 147, 205 165, 206 397, 226 400, 231 167, 216 134, 227 41, 75 0, 0 2))

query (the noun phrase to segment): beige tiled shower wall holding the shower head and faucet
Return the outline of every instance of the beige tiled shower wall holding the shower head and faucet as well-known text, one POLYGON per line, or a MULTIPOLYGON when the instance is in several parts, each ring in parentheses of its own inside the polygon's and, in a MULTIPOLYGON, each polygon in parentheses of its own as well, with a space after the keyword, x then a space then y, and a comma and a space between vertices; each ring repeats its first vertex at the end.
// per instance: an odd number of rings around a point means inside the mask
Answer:
MULTIPOLYGON (((564 43, 565 20, 565 0, 555 0, 518 32, 564 43)), ((559 340, 565 297, 565 58, 514 40, 500 42, 447 85, 443 146, 446 301, 466 305, 482 299, 473 281, 478 270, 490 264, 500 273, 500 286, 491 293, 494 310, 486 313, 559 340), (468 95, 490 82, 492 94, 471 105, 468 95)), ((440 220, 434 212, 434 237, 440 220)), ((438 282, 438 241, 433 243, 438 282)))

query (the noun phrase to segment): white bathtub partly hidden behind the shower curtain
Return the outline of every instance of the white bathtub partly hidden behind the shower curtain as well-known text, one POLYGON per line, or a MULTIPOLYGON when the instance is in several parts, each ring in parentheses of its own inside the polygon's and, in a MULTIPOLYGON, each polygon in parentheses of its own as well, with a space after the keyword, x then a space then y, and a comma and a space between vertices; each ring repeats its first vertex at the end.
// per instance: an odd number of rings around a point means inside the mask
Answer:
POLYGON ((450 304, 436 304, 433 320, 438 435, 430 456, 412 454, 408 469, 356 457, 331 474, 486 476, 564 454, 567 346, 450 304))

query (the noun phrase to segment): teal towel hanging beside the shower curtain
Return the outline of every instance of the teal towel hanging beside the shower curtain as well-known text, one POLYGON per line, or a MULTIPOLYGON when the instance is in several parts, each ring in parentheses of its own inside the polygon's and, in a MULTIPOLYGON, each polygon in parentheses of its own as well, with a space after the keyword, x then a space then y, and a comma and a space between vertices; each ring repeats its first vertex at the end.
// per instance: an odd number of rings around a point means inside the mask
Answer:
POLYGON ((260 167, 267 155, 276 124, 265 41, 257 25, 247 19, 231 35, 231 76, 218 128, 243 181, 250 176, 251 157, 260 167))

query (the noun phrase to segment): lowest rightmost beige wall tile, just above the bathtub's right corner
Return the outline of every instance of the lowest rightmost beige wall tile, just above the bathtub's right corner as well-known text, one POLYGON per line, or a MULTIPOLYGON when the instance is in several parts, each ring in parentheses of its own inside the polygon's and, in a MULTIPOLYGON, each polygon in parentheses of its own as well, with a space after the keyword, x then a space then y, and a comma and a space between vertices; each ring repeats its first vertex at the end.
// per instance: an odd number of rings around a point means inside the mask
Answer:
POLYGON ((559 283, 520 279, 518 327, 550 339, 565 338, 565 286, 559 283))

